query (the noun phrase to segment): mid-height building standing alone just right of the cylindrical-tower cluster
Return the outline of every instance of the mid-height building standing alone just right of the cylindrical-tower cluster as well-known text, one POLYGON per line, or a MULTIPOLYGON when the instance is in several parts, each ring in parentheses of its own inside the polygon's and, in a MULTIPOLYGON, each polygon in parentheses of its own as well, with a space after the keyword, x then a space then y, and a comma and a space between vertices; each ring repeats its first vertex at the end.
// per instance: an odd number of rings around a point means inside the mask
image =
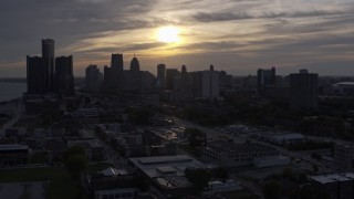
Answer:
POLYGON ((98 92, 101 88, 101 74, 97 65, 88 65, 85 75, 86 88, 90 92, 98 92))

